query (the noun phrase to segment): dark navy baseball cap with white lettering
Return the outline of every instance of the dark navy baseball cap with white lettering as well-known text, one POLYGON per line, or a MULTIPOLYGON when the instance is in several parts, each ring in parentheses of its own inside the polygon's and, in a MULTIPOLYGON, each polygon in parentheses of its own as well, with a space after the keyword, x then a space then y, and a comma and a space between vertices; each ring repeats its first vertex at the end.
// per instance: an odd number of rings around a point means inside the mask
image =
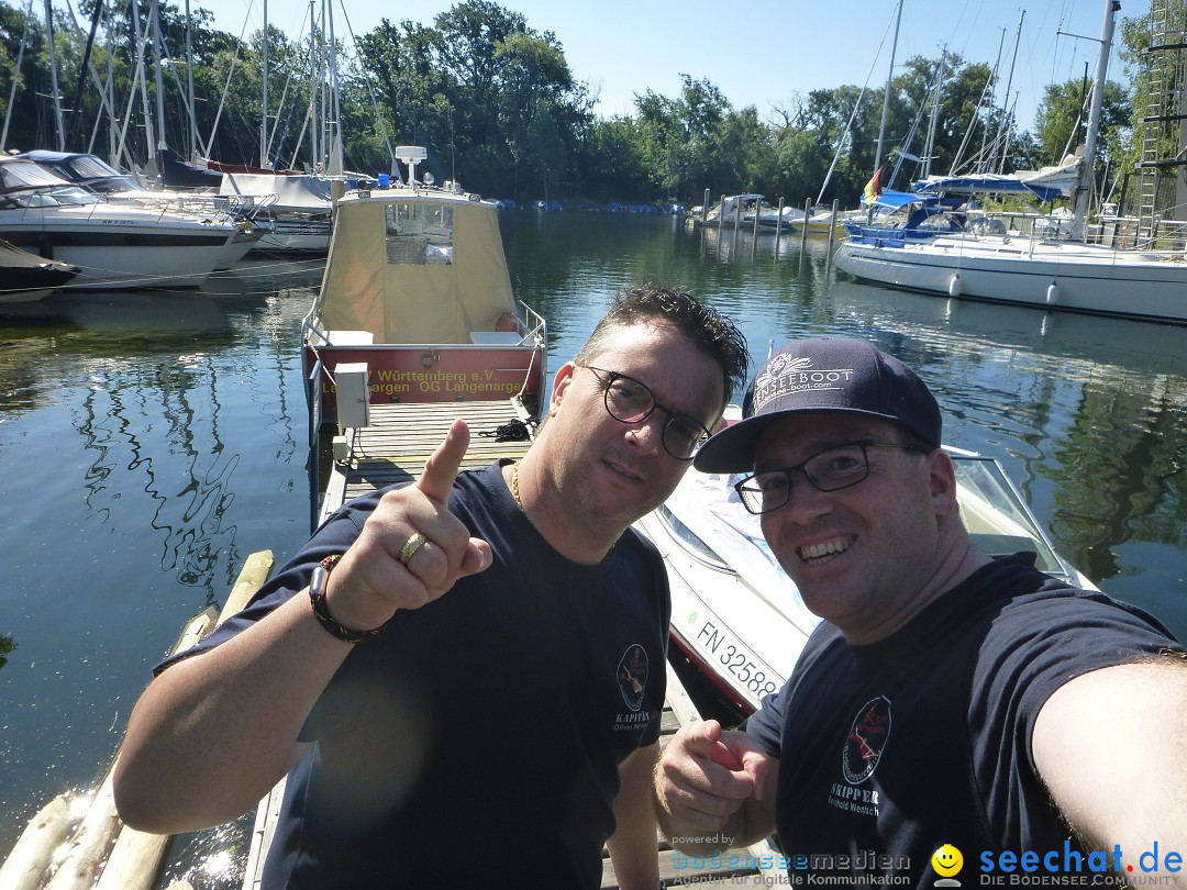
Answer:
POLYGON ((792 341, 767 361, 747 389, 742 420, 710 437, 693 466, 750 472, 763 431, 805 411, 891 420, 940 446, 940 406, 915 371, 864 339, 812 337, 792 341))

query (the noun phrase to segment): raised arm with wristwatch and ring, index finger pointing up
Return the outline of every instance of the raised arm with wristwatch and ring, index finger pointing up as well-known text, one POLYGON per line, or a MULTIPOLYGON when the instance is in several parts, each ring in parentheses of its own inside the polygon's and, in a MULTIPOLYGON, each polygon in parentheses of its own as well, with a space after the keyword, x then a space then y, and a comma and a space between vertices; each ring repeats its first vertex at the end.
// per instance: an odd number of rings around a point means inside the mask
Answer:
MULTIPOLYGON (((420 479, 383 496, 330 572, 326 604, 343 625, 376 628, 490 565, 489 545, 447 509, 468 445, 465 424, 455 422, 420 479), (405 565, 400 548, 417 530, 429 543, 405 565)), ((304 754, 301 726, 350 649, 318 624, 306 590, 170 667, 128 721, 114 775, 121 818, 174 834, 250 809, 304 754)))

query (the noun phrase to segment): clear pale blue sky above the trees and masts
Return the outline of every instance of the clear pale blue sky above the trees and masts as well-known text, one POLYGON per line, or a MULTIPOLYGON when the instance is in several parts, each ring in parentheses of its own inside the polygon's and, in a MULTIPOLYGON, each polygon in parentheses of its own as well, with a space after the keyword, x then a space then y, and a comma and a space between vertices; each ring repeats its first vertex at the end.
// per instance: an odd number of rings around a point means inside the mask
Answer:
MULTIPOLYGON (((177 0, 184 7, 184 0, 177 0)), ((499 0, 495 0, 499 2, 499 0)), ((262 0, 191 0, 216 25, 240 33, 260 27, 262 0)), ((599 95, 602 116, 634 112, 634 95, 652 89, 675 96, 680 75, 716 84, 735 107, 753 104, 763 119, 773 106, 842 84, 881 90, 890 64, 897 0, 504 0, 528 26, 552 31, 578 80, 599 95)), ((431 24, 453 0, 415 4, 345 0, 349 30, 336 0, 335 30, 362 34, 382 17, 431 24)), ((309 2, 268 0, 268 18, 291 36, 307 30, 309 2)), ((318 0, 317 8, 320 8, 318 0)), ((1004 82, 1021 40, 1010 93, 1029 128, 1043 88, 1083 76, 1096 64, 1105 0, 903 0, 896 64, 912 56, 938 58, 941 47, 990 65, 1001 53, 1004 82), (1022 15, 1023 9, 1026 14, 1022 15), (1073 36, 1058 36, 1058 32, 1073 36), (1004 34, 1004 40, 1003 40, 1004 34)), ((1144 17, 1149 0, 1122 0, 1119 17, 1144 17)), ((1118 17, 1118 26, 1119 19, 1118 17)), ((1119 33, 1119 27, 1118 27, 1119 33)), ((1122 76, 1115 57, 1111 80, 1122 76)), ((1001 101, 1001 100, 999 100, 1001 101)))

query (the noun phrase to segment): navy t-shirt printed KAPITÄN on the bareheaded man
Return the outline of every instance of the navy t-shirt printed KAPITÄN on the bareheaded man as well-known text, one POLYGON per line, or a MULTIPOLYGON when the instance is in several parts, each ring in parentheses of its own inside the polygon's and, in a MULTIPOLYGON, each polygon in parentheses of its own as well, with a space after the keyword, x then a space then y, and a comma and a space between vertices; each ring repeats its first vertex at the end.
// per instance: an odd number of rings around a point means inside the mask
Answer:
MULTIPOLYGON (((381 492, 343 507, 215 646, 307 585, 381 492)), ((659 738, 667 576, 628 530, 597 566, 563 558, 493 465, 450 511, 494 564, 398 612, 347 657, 307 719, 268 888, 596 888, 618 764, 659 738)), ((188 653, 189 654, 189 653, 188 653)))

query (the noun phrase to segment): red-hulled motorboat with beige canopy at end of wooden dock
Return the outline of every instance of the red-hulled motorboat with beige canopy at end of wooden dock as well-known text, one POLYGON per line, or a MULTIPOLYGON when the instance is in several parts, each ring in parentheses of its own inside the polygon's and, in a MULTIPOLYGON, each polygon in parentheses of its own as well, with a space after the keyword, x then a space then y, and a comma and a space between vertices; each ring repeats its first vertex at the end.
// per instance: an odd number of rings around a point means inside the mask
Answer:
POLYGON ((423 147, 396 153, 406 183, 361 184, 335 208, 322 287, 301 323, 311 406, 322 422, 344 406, 515 396, 538 413, 546 324, 515 301, 494 203, 457 183, 418 182, 423 147))

